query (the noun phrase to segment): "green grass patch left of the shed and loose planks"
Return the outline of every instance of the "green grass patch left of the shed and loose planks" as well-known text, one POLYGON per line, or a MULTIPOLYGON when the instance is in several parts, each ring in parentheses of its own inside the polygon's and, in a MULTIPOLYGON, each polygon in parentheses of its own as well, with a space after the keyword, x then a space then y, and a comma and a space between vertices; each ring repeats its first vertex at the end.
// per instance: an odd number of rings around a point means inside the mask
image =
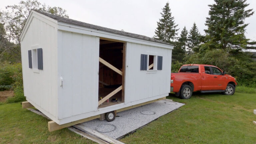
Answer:
POLYGON ((49 132, 49 120, 27 109, 22 109, 20 103, 1 104, 0 120, 1 144, 94 143, 67 128, 49 132))

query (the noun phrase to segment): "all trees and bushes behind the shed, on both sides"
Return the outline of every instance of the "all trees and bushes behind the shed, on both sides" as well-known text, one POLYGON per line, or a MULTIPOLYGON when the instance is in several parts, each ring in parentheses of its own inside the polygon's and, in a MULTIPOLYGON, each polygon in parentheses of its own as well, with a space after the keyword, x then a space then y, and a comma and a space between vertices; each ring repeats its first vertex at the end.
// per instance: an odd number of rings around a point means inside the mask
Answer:
MULTIPOLYGON (((206 18, 205 34, 196 23, 184 27, 178 36, 178 24, 166 3, 157 22, 153 38, 173 44, 172 72, 183 64, 215 65, 237 79, 239 85, 256 87, 256 62, 247 49, 256 49, 256 42, 246 38, 244 20, 254 14, 246 0, 214 0, 206 18)), ((21 63, 20 34, 31 9, 68 18, 66 10, 50 7, 37 0, 21 0, 0 11, 0 65, 21 63)), ((1 74, 0 74, 1 79, 1 74)), ((1 83, 0 83, 1 85, 1 83)), ((0 88, 1 89, 1 88, 0 88)))

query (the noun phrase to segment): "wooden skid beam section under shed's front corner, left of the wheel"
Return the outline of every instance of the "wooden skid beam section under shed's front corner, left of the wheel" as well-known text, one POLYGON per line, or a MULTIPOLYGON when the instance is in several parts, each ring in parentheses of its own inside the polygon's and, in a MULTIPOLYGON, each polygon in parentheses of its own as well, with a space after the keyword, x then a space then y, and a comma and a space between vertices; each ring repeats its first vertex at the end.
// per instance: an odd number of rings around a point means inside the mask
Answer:
POLYGON ((59 130, 59 129, 69 127, 69 126, 72 126, 72 125, 76 125, 76 124, 79 124, 79 123, 87 122, 87 121, 90 121, 90 120, 93 120, 93 119, 97 119, 97 118, 100 118, 100 115, 84 118, 84 119, 81 119, 81 120, 73 121, 73 122, 70 122, 70 123, 62 124, 62 125, 58 125, 54 121, 49 121, 48 122, 48 130, 51 132, 51 131, 59 130))

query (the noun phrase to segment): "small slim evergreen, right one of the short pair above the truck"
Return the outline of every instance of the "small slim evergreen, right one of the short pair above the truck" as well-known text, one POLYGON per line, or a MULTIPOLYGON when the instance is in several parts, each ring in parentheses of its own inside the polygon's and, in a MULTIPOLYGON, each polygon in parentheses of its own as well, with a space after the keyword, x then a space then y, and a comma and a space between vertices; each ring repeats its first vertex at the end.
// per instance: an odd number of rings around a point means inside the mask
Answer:
POLYGON ((201 37, 201 34, 198 31, 196 23, 194 23, 188 35, 189 54, 192 54, 193 49, 198 49, 198 46, 200 44, 200 37, 201 37))

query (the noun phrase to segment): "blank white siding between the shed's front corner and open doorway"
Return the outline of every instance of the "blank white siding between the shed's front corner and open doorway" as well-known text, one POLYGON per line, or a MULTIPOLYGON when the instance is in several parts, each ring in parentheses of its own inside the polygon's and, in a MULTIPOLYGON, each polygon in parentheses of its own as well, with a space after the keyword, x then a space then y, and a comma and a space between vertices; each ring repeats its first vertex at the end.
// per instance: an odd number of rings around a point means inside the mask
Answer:
POLYGON ((98 108, 99 37, 58 31, 58 118, 98 108))

